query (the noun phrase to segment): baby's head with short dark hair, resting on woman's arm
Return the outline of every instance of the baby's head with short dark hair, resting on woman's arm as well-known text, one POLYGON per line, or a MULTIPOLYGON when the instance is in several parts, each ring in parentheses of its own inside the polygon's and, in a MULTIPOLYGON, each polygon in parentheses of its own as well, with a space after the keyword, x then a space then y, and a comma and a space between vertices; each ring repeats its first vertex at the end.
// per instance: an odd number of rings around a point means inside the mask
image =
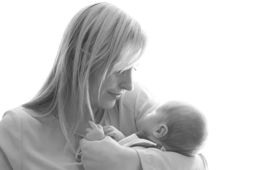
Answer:
POLYGON ((142 133, 166 150, 194 156, 207 136, 206 119, 192 105, 169 101, 143 117, 142 133))

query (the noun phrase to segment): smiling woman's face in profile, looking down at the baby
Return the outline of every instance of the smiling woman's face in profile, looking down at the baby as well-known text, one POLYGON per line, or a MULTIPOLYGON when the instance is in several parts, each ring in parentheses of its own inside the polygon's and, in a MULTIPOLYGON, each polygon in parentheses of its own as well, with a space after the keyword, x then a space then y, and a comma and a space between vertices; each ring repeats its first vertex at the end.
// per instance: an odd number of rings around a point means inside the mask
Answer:
POLYGON ((124 71, 122 74, 112 74, 105 78, 99 93, 99 74, 95 72, 91 76, 90 93, 93 104, 97 108, 111 109, 114 107, 116 100, 119 99, 126 90, 132 91, 134 68, 124 71), (99 102, 98 102, 99 95, 99 102))

